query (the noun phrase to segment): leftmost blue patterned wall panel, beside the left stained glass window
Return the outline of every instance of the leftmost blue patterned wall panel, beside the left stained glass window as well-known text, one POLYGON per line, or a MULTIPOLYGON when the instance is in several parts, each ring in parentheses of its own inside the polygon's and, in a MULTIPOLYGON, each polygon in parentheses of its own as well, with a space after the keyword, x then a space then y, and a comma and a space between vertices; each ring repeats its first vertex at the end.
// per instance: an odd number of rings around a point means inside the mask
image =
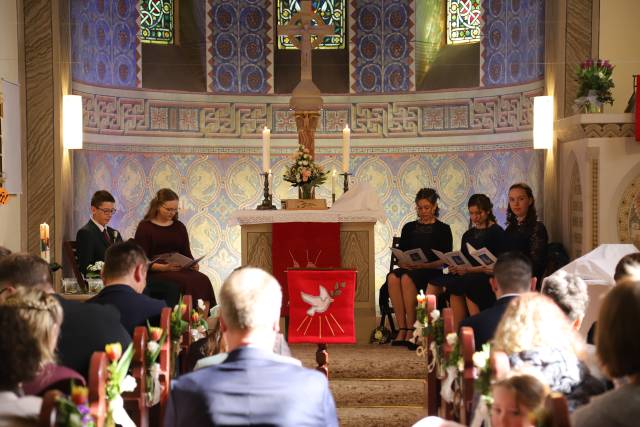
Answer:
POLYGON ((137 0, 71 1, 73 80, 140 87, 137 0))

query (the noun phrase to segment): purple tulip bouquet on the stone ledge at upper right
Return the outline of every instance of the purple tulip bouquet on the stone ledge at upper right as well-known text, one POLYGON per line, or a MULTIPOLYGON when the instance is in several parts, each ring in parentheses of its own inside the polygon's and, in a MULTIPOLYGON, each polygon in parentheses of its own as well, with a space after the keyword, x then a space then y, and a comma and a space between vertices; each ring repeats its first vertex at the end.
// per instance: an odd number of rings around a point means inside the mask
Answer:
POLYGON ((576 70, 578 81, 577 98, 574 101, 578 111, 593 113, 602 111, 604 104, 613 105, 611 89, 615 86, 611 74, 613 65, 609 61, 587 59, 576 70))

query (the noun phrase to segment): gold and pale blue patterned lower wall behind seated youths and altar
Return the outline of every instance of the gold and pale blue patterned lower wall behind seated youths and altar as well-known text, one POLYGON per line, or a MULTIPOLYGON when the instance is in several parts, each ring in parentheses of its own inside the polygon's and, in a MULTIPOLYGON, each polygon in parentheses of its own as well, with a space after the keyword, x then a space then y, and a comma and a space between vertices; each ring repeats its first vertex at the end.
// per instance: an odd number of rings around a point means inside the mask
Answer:
MULTIPOLYGON (((526 145, 530 146, 530 142, 526 145)), ((355 177, 376 189, 388 218, 375 227, 376 286, 384 282, 388 272, 392 237, 400 234, 404 223, 415 219, 413 198, 419 188, 433 186, 440 193, 440 217, 452 226, 456 247, 468 226, 466 203, 470 195, 489 195, 498 222, 504 224, 507 191, 513 182, 526 180, 539 194, 542 155, 519 147, 512 143, 484 148, 430 147, 425 151, 388 148, 377 152, 354 147, 355 177)), ((153 194, 161 187, 171 187, 180 195, 180 219, 189 230, 194 255, 213 251, 202 271, 217 291, 240 263, 240 227, 232 224, 231 214, 236 209, 254 209, 262 197, 260 148, 185 147, 174 153, 140 146, 118 146, 119 151, 111 151, 115 147, 105 145, 88 148, 74 151, 74 229, 87 221, 93 192, 108 189, 118 207, 112 225, 123 237, 132 237, 153 194)), ((282 198, 295 197, 295 191, 281 178, 289 154, 272 156, 278 206, 282 198)), ((321 151, 318 161, 330 169, 339 168, 341 159, 321 151)), ((330 192, 331 183, 327 182, 317 195, 330 199, 330 192)), ((542 198, 536 200, 539 203, 542 198)), ((539 212, 541 208, 538 206, 539 212)))

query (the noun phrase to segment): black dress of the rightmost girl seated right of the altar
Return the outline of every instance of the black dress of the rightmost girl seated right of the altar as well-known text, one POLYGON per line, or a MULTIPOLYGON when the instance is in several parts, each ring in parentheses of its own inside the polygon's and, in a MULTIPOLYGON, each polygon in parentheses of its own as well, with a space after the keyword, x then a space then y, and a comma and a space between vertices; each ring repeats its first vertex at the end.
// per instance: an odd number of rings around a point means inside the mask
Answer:
POLYGON ((539 221, 509 224, 504 230, 504 250, 519 251, 531 259, 533 275, 540 289, 547 266, 547 244, 549 236, 544 224, 539 221))

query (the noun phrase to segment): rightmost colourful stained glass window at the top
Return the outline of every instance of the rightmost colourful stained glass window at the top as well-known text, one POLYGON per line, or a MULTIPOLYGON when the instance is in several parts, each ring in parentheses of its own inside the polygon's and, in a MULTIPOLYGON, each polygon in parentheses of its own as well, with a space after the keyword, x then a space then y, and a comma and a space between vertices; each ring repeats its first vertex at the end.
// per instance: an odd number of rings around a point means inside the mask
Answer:
POLYGON ((447 0, 447 43, 480 41, 480 0, 447 0))

